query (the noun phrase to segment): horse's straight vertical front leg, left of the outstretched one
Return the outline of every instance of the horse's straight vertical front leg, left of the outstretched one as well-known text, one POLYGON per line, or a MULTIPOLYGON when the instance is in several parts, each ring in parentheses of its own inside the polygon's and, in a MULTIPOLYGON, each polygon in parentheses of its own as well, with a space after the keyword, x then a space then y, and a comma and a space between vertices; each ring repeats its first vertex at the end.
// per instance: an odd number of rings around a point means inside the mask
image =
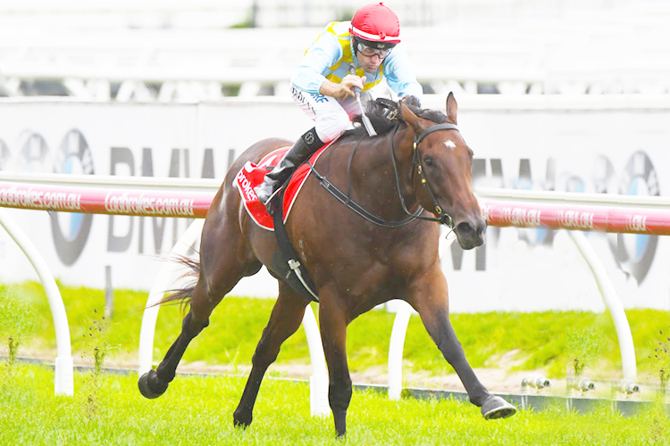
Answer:
POLYGON ((328 364, 328 402, 338 436, 347 433, 347 409, 351 401, 351 376, 347 363, 347 325, 344 306, 337 297, 320 293, 319 331, 328 364))

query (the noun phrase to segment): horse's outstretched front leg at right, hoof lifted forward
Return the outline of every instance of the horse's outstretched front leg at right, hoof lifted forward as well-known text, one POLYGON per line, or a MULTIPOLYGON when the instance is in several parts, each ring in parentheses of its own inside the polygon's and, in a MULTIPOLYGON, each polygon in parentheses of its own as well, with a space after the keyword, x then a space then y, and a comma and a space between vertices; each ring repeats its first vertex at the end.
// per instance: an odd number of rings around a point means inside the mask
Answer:
POLYGON ((482 408, 487 418, 511 417, 516 409, 502 398, 490 394, 465 359, 465 352, 449 321, 447 280, 439 266, 415 281, 407 301, 419 313, 423 326, 442 355, 465 386, 470 401, 482 408))

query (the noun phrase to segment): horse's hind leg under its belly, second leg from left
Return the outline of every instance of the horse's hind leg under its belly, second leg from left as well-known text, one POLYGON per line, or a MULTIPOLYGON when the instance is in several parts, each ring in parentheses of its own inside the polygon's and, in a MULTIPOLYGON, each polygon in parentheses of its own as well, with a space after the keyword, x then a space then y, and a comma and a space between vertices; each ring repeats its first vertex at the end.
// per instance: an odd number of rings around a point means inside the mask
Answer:
POLYGON ((239 401, 238 409, 235 409, 233 414, 235 425, 246 427, 251 424, 255 399, 265 371, 277 359, 281 344, 290 335, 293 335, 300 326, 306 306, 307 301, 302 296, 293 291, 289 285, 280 282, 279 298, 274 304, 270 321, 263 330, 261 340, 255 348, 254 357, 251 359, 251 373, 239 401))

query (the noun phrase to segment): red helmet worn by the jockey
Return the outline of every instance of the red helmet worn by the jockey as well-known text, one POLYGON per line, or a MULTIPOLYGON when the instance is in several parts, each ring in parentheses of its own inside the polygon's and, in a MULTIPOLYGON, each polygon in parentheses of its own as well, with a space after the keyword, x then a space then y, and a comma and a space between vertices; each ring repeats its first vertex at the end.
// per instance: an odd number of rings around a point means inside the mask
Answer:
POLYGON ((352 36, 360 37, 368 42, 385 44, 400 43, 400 22, 395 12, 388 6, 366 4, 356 11, 351 19, 349 32, 352 36))

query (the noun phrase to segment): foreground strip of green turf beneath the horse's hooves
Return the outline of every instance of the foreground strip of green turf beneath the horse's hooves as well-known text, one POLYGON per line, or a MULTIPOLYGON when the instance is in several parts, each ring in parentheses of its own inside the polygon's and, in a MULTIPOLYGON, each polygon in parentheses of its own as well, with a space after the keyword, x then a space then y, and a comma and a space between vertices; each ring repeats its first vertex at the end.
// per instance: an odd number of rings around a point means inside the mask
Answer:
POLYGON ((137 376, 75 372, 74 396, 54 396, 51 368, 0 365, 0 444, 39 445, 656 445, 670 423, 659 406, 622 417, 607 405, 587 414, 565 408, 486 421, 457 401, 389 401, 355 391, 348 434, 335 439, 331 417, 309 416, 305 383, 265 379, 253 424, 232 425, 244 380, 180 376, 145 400, 137 376))

